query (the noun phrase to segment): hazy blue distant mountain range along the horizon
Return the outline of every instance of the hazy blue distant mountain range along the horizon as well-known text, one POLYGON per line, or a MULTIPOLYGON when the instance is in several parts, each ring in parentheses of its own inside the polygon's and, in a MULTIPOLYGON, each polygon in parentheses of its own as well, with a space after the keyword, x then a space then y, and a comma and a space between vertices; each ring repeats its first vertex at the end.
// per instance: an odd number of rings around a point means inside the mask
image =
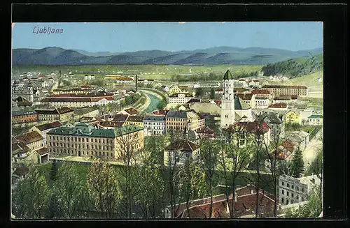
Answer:
POLYGON ((262 47, 212 47, 204 50, 166 52, 148 50, 139 52, 85 52, 65 50, 60 47, 43 49, 14 49, 13 65, 87 65, 87 64, 157 64, 157 65, 266 65, 322 54, 323 48, 314 50, 289 51, 262 47))

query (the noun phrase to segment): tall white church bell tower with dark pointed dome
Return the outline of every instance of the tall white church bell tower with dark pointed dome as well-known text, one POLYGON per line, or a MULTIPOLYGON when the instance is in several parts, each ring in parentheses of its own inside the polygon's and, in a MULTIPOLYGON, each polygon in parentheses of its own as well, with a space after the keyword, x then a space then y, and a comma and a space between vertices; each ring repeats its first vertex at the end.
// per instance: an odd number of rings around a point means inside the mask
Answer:
POLYGON ((234 80, 227 70, 223 77, 223 97, 221 98, 221 128, 226 128, 235 123, 235 94, 234 80))

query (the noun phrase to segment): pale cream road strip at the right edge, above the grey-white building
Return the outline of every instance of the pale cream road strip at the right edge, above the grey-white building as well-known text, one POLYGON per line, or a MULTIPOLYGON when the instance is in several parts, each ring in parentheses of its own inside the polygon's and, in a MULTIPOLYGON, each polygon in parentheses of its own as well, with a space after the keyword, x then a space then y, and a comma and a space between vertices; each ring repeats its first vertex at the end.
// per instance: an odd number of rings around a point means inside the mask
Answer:
POLYGON ((307 148, 302 152, 304 158, 305 169, 311 164, 311 162, 316 158, 317 154, 323 148, 323 129, 319 130, 309 144, 307 148))

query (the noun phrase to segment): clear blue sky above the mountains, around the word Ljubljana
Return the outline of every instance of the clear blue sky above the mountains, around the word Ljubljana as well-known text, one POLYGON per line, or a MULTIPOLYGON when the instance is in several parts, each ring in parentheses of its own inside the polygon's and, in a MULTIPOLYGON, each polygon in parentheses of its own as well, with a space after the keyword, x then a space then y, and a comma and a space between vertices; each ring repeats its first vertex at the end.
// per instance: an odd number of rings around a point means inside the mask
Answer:
POLYGON ((62 47, 88 52, 181 51, 209 47, 323 47, 322 22, 15 23, 13 48, 62 47), (63 33, 33 33, 34 26, 63 33))

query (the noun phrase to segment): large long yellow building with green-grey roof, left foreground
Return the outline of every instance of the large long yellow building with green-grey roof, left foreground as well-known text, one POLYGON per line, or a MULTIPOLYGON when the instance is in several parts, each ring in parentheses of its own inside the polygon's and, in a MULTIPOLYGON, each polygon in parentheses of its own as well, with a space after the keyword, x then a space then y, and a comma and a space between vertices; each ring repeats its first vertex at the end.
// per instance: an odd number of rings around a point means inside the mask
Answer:
POLYGON ((134 152, 144 147, 144 128, 123 126, 97 129, 87 123, 73 128, 55 128, 47 133, 48 149, 52 155, 71 155, 118 159, 126 150, 134 152))

